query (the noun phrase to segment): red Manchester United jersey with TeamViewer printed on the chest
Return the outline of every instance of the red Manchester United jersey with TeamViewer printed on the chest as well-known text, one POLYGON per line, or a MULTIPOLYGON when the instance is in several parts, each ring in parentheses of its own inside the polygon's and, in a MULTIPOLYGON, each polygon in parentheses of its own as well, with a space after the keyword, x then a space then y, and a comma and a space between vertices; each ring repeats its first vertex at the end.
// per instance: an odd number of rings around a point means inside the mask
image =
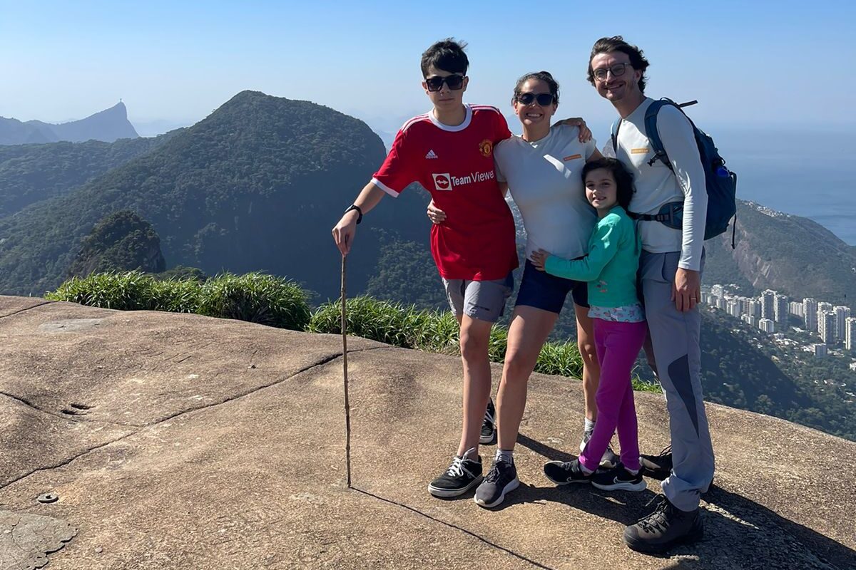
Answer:
POLYGON ((517 267, 514 217, 499 192, 493 146, 511 136, 496 107, 465 105, 461 125, 426 113, 395 135, 372 182, 392 196, 419 182, 446 212, 431 226, 431 256, 446 279, 505 279, 517 267))

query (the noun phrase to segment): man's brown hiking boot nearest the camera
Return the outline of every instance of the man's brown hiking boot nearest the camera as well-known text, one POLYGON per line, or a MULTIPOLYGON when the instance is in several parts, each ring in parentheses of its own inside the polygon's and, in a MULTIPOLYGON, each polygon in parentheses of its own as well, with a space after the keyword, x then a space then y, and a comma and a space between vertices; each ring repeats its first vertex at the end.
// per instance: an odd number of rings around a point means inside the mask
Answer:
POLYGON ((657 502, 654 512, 624 529, 624 542, 630 549, 660 554, 704 537, 704 522, 698 507, 691 512, 682 511, 664 495, 657 495, 651 502, 657 502))

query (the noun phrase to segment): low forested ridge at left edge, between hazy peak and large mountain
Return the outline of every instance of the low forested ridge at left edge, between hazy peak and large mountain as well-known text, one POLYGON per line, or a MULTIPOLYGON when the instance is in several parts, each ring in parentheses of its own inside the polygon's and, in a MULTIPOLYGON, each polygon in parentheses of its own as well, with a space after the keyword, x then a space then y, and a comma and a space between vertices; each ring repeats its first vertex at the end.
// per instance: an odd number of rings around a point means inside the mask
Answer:
POLYGON ((0 218, 83 185, 175 136, 0 146, 0 218))

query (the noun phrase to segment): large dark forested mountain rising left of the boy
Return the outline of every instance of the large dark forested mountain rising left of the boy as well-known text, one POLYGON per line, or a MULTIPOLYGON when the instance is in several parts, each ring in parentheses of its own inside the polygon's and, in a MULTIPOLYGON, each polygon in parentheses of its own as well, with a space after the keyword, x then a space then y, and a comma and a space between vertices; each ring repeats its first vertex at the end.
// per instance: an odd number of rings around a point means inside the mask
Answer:
MULTIPOLYGON (((360 120, 243 91, 155 150, 0 220, 0 291, 56 288, 80 238, 104 215, 132 209, 152 222, 167 267, 262 270, 337 297, 341 256, 330 228, 383 156, 360 120)), ((351 291, 375 272, 381 238, 372 226, 427 248, 425 197, 403 192, 366 216, 348 257, 351 291)))

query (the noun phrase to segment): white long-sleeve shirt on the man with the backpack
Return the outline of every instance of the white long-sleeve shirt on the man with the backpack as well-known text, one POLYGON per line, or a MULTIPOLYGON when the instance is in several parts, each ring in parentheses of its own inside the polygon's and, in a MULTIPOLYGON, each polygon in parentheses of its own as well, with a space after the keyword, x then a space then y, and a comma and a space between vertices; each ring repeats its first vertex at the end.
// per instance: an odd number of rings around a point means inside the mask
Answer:
POLYGON ((675 172, 659 160, 648 165, 654 149, 645 132, 645 111, 653 101, 645 97, 633 113, 621 120, 615 156, 633 173, 631 212, 657 214, 665 203, 684 203, 682 230, 653 220, 639 222, 642 249, 651 253, 680 251, 678 267, 698 271, 707 219, 704 167, 698 156, 693 126, 671 105, 664 105, 657 114, 657 132, 675 172))

